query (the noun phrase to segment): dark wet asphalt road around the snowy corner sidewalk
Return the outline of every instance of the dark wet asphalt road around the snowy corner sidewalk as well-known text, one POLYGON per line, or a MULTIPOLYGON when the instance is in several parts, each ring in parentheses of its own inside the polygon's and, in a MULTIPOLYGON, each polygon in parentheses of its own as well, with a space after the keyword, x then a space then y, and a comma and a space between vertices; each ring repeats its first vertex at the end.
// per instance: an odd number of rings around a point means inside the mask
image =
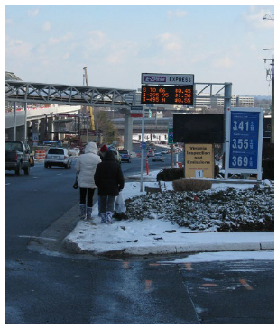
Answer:
MULTIPOLYGON (((168 167, 167 156, 150 169, 168 167)), ((139 174, 140 160, 122 168, 139 174)), ((74 175, 42 163, 29 176, 6 172, 6 323, 273 323, 272 261, 65 253, 60 241, 78 221, 74 175)))

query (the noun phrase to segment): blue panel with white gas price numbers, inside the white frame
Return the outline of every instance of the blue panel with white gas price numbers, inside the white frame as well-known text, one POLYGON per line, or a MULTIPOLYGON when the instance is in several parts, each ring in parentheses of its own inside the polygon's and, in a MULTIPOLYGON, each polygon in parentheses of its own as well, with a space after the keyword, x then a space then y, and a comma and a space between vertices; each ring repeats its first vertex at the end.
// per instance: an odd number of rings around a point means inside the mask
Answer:
POLYGON ((257 169, 260 113, 231 112, 229 168, 257 169))

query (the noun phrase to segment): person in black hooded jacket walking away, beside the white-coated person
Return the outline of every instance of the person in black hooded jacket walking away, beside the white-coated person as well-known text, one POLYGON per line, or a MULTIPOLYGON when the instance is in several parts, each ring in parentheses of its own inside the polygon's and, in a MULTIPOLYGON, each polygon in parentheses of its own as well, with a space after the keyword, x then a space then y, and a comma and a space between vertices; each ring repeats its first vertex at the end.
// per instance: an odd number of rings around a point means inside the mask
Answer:
POLYGON ((121 166, 115 161, 112 150, 107 150, 103 161, 97 165, 94 175, 100 199, 99 211, 101 223, 112 223, 115 208, 115 197, 125 186, 121 166))

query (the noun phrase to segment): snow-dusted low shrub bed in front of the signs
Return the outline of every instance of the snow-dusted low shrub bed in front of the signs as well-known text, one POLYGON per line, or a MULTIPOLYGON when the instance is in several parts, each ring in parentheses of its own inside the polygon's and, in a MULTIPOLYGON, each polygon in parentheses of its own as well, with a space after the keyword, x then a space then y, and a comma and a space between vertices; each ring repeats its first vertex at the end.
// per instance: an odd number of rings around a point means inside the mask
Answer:
POLYGON ((125 201, 131 220, 161 219, 203 232, 273 231, 273 187, 216 188, 140 195, 125 201))

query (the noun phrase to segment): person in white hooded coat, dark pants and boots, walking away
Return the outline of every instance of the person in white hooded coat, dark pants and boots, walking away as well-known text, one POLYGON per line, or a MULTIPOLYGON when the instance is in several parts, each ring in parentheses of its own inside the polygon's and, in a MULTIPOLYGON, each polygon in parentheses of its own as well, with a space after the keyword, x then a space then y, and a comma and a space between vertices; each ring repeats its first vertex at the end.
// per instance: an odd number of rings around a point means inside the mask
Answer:
POLYGON ((86 145, 85 154, 79 156, 75 165, 78 172, 80 219, 86 219, 86 215, 88 220, 91 219, 92 199, 94 190, 97 188, 94 182, 94 174, 97 164, 101 162, 97 152, 96 143, 89 142, 86 145))

